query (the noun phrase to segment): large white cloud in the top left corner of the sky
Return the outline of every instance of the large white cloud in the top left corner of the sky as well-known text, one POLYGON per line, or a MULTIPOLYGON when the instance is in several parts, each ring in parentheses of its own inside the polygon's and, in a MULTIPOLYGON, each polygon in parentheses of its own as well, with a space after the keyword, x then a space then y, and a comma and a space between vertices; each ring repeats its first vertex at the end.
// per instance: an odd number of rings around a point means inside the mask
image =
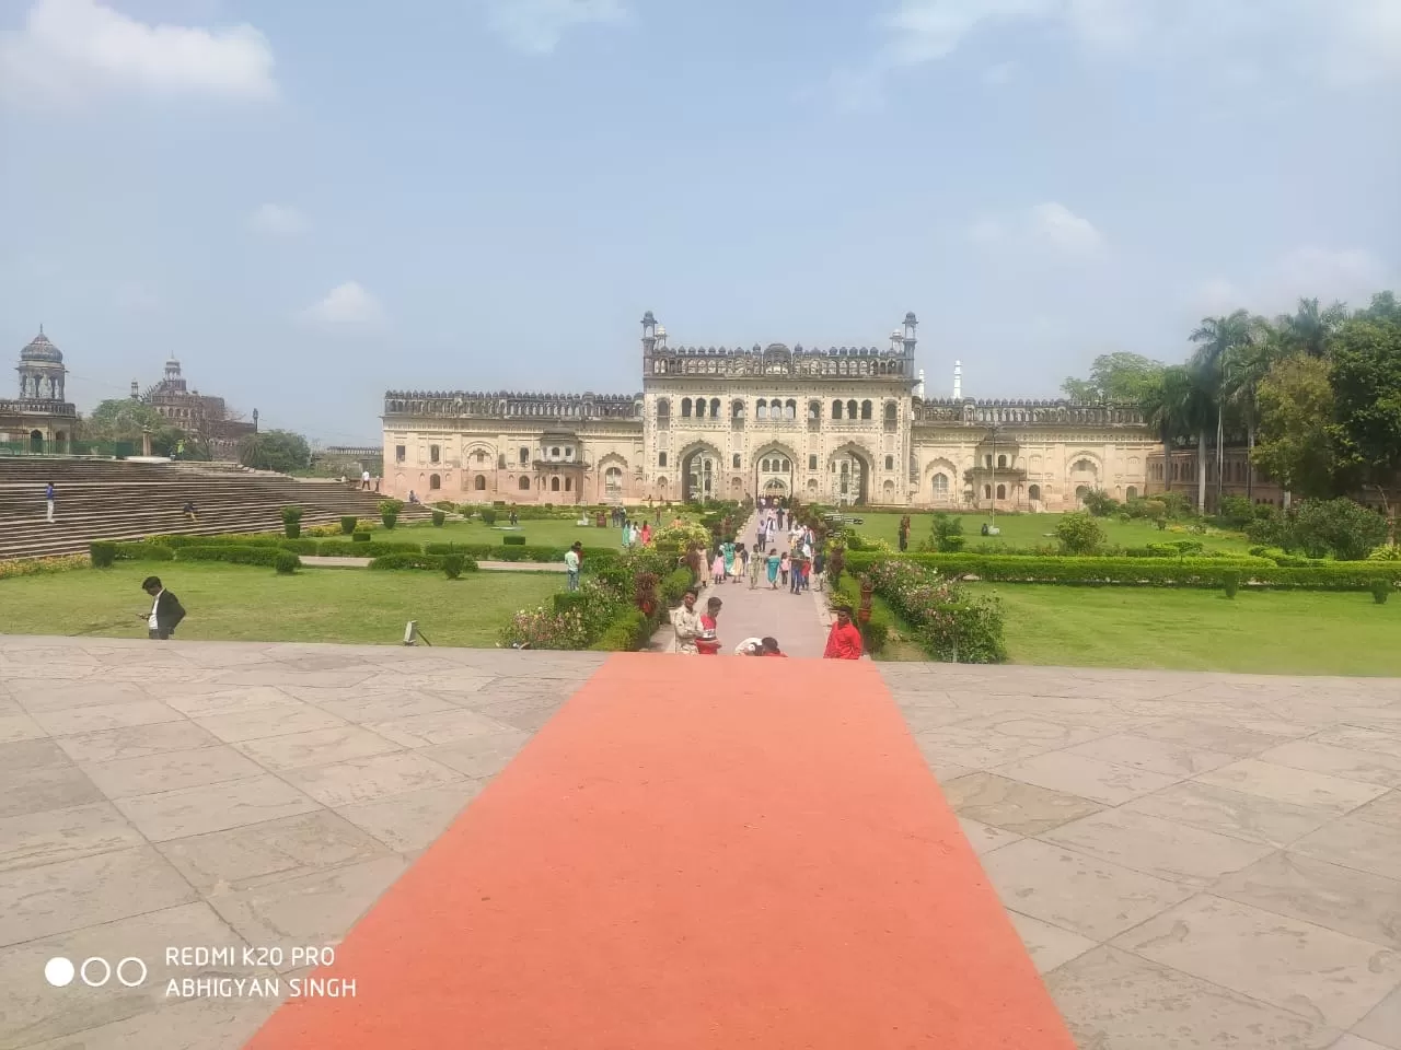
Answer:
POLYGON ((272 49, 251 25, 151 25, 95 0, 36 0, 0 32, 0 98, 76 104, 115 91, 265 99, 272 49))

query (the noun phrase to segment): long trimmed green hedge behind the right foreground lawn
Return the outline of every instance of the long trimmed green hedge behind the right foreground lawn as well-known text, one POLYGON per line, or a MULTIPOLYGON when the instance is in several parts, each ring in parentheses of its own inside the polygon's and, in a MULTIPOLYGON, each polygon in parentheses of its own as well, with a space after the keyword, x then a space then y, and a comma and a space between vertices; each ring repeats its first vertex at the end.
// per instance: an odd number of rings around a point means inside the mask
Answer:
MULTIPOLYGON (((890 554, 848 553, 846 571, 864 573, 890 554)), ((1373 580, 1401 584, 1401 563, 1330 561, 1309 567, 1275 564, 1262 557, 1026 557, 1020 554, 904 554, 901 560, 929 566, 943 575, 1007 584, 1083 584, 1098 587, 1199 587, 1217 589, 1226 574, 1243 584, 1311 591, 1367 591, 1373 580)))

